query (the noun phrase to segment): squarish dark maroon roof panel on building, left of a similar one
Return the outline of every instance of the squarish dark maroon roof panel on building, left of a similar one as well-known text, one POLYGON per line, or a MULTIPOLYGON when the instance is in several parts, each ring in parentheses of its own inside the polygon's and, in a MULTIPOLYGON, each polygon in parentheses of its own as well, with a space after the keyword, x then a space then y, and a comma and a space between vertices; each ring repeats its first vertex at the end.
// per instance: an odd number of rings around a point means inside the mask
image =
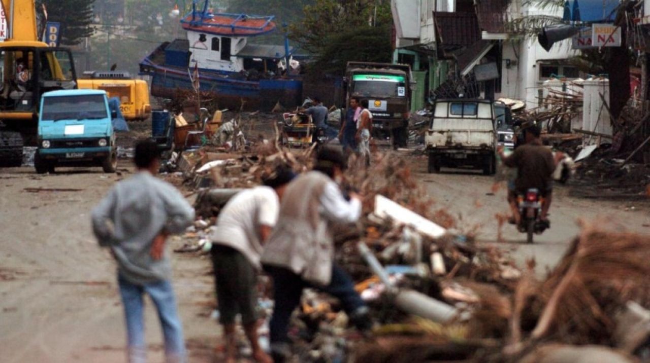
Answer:
POLYGON ((474 12, 434 12, 435 28, 446 49, 467 47, 481 38, 474 12))

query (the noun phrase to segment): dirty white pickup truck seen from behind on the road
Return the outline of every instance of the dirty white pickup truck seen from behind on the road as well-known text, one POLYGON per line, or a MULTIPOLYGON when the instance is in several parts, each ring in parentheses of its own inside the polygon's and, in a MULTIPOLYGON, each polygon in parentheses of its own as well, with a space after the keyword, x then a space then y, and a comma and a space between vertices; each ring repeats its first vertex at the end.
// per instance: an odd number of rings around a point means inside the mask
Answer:
POLYGON ((495 110, 484 99, 439 99, 426 132, 428 172, 472 167, 485 175, 495 172, 497 149, 495 110))

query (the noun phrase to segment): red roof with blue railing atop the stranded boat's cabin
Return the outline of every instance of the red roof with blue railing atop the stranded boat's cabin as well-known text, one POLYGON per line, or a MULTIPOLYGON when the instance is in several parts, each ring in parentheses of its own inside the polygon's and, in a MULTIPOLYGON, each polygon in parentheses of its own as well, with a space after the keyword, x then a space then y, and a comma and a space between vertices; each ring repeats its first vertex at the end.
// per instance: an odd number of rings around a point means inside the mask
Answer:
POLYGON ((272 16, 253 17, 244 14, 209 14, 201 19, 201 13, 196 12, 181 20, 181 24, 187 31, 227 36, 255 36, 276 29, 276 24, 271 19, 272 16))

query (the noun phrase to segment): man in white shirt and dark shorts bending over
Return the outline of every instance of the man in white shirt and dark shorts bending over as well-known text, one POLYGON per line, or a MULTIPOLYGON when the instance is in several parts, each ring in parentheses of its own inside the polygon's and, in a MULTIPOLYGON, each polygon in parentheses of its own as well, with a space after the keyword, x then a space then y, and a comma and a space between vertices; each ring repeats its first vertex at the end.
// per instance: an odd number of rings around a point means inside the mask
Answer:
POLYGON ((257 272, 261 269, 263 244, 278 221, 279 199, 293 177, 291 169, 277 168, 263 178, 264 186, 235 195, 221 211, 216 230, 210 235, 219 321, 224 325, 228 363, 237 361, 237 314, 241 314, 255 361, 272 362, 261 349, 257 336, 257 272))

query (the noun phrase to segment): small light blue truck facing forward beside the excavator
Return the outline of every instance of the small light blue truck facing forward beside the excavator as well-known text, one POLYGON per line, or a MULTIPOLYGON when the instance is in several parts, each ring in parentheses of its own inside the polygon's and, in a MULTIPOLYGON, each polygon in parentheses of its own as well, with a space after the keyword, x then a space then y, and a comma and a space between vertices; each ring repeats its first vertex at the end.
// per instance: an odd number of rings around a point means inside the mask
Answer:
POLYGON ((101 166, 112 173, 117 146, 107 94, 102 90, 60 90, 43 95, 38 113, 36 172, 56 166, 101 166))

